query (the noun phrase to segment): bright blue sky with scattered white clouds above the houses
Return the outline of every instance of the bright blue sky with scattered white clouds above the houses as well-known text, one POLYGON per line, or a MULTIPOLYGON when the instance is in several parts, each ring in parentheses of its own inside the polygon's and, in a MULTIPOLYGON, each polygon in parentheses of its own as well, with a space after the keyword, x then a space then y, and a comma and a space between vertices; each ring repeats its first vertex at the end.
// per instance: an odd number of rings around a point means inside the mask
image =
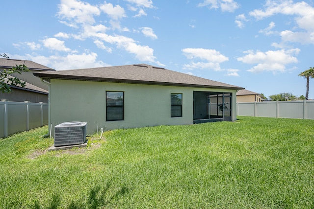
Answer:
MULTIPOLYGON (((55 70, 149 64, 300 96, 314 0, 2 0, 0 53, 55 70)), ((314 99, 314 79, 309 98, 314 99)))

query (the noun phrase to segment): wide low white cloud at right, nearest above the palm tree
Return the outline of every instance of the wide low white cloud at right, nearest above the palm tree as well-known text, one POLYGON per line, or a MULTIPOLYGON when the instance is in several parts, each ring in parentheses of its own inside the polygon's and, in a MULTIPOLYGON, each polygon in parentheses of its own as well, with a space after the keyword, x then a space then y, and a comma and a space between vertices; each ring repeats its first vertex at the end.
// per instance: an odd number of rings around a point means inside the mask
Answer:
POLYGON ((298 59, 295 57, 300 52, 300 49, 293 48, 289 50, 281 49, 277 51, 245 51, 245 56, 237 58, 238 61, 246 64, 257 64, 249 72, 285 72, 286 66, 292 63, 297 63, 298 59))

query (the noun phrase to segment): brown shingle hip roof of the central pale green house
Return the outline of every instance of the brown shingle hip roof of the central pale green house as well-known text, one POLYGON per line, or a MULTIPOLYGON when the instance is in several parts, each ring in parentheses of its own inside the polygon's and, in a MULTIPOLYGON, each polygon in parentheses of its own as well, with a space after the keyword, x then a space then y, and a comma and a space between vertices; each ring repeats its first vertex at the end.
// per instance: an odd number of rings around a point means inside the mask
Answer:
POLYGON ((220 83, 177 71, 166 70, 164 68, 147 64, 78 70, 56 70, 35 72, 33 74, 47 81, 50 81, 50 79, 67 79, 168 86, 210 87, 234 90, 244 89, 242 87, 220 83))

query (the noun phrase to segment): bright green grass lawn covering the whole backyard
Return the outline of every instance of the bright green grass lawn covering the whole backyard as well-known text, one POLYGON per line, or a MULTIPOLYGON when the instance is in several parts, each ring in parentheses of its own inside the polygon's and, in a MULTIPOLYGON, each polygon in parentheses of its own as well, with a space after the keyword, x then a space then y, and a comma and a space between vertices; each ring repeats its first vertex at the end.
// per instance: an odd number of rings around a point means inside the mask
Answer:
POLYGON ((314 208, 314 120, 156 126, 47 152, 47 127, 0 139, 0 208, 314 208))

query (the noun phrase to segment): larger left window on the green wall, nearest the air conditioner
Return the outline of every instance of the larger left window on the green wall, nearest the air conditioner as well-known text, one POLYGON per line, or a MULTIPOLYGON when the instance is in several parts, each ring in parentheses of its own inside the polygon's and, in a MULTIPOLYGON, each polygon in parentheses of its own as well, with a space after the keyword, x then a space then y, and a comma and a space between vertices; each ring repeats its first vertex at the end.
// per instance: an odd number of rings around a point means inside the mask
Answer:
POLYGON ((123 92, 106 92, 106 121, 123 120, 123 92))

